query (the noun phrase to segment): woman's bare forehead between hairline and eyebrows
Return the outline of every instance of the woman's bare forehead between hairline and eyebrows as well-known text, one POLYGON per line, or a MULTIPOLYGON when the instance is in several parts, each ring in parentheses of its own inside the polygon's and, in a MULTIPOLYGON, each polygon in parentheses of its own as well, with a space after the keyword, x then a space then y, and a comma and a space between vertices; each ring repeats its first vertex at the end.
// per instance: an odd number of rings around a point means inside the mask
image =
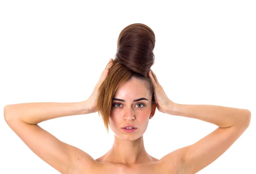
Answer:
POLYGON ((131 80, 120 85, 114 94, 114 98, 126 99, 128 101, 149 96, 150 91, 146 86, 146 82, 137 78, 132 78, 131 80))

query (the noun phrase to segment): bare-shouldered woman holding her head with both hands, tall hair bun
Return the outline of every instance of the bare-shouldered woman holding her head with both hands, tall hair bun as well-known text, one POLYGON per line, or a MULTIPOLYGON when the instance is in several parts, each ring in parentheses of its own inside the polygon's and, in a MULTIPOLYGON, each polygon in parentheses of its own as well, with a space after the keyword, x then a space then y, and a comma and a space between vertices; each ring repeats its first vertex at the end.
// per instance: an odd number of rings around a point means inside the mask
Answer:
POLYGON ((123 29, 117 53, 102 72, 90 97, 78 103, 21 103, 4 108, 6 123, 35 153, 62 174, 195 174, 218 157, 250 124, 250 111, 210 105, 183 105, 170 100, 156 75, 155 35, 144 24, 123 29), (150 71, 151 70, 151 71, 150 71), (218 128, 198 142, 160 160, 145 151, 143 134, 156 108, 163 113, 196 118, 218 128), (98 111, 115 134, 112 148, 98 159, 61 142, 38 126, 53 118, 98 111))

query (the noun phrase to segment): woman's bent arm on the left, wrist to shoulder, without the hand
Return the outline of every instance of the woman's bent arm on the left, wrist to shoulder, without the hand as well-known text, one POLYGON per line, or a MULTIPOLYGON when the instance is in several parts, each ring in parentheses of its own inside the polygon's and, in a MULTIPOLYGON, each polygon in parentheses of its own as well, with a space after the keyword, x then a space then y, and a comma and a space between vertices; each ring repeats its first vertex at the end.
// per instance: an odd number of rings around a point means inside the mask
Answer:
POLYGON ((4 118, 18 137, 42 160, 61 174, 78 170, 83 163, 89 172, 96 161, 79 148, 58 140, 37 123, 58 117, 89 114, 90 105, 79 103, 21 103, 7 105, 4 118))

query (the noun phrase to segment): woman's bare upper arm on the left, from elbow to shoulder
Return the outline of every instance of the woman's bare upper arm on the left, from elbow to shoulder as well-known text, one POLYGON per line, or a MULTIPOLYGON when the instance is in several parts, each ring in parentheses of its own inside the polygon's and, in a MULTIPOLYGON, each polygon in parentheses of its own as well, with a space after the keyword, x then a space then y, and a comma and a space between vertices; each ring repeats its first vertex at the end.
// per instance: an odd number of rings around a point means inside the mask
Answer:
POLYGON ((90 171, 91 166, 96 163, 86 152, 62 142, 37 124, 7 116, 5 119, 8 126, 38 157, 62 174, 72 173, 81 164, 84 171, 90 171))

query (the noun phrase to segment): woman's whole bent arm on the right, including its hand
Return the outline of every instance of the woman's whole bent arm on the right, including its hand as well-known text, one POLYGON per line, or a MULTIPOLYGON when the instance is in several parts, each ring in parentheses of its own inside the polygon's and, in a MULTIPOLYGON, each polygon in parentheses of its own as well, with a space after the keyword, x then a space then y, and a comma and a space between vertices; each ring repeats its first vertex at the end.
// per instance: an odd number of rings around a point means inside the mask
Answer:
POLYGON ((160 160, 166 164, 167 170, 176 161, 177 173, 197 173, 218 159, 248 128, 251 119, 249 110, 215 105, 174 103, 166 96, 156 75, 151 72, 149 72, 149 77, 154 85, 154 95, 159 111, 203 120, 218 126, 198 142, 179 148, 161 158, 160 160))

